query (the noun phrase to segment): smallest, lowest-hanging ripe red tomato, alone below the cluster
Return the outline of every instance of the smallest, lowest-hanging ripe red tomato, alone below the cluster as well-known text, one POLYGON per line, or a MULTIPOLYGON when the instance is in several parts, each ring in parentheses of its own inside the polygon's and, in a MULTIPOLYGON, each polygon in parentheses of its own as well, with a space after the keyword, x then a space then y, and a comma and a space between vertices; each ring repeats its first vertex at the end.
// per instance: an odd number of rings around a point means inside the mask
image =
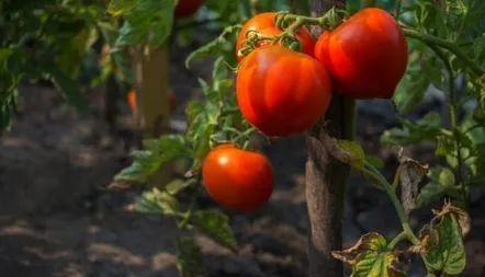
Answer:
POLYGON ((261 207, 273 192, 273 169, 261 153, 221 145, 208 152, 202 165, 208 195, 222 206, 250 211, 261 207))

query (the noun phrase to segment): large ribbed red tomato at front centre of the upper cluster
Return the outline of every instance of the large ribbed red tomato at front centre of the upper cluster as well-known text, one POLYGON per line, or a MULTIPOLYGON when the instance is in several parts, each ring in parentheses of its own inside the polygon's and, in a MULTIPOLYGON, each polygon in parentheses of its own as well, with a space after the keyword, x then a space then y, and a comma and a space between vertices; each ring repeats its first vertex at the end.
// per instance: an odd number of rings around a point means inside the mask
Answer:
POLYGON ((255 49, 237 72, 239 108, 267 136, 286 137, 309 129, 327 111, 330 92, 324 66, 279 45, 255 49))

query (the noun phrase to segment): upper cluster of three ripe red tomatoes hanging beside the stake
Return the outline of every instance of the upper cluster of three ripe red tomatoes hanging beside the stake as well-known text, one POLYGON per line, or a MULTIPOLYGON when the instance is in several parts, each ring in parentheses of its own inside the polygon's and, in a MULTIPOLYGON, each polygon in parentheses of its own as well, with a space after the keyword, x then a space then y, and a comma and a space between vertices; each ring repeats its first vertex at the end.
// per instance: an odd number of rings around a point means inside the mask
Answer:
POLYGON ((323 33, 316 44, 302 26, 294 33, 302 53, 282 45, 281 39, 255 41, 247 47, 246 42, 257 34, 282 36, 275 18, 270 12, 253 16, 236 43, 239 108, 264 135, 286 137, 309 129, 324 116, 331 90, 351 99, 394 95, 406 70, 407 44, 386 11, 362 9, 323 33))

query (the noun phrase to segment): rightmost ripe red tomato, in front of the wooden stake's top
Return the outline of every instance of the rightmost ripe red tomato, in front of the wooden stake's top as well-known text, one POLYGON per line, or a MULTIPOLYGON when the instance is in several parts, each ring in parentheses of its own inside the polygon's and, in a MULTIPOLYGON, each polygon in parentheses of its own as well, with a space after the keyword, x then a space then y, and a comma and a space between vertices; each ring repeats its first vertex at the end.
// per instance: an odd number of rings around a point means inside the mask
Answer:
POLYGON ((365 8, 322 34, 315 57, 328 69, 338 93, 352 99, 390 99, 406 71, 407 44, 390 13, 365 8))

